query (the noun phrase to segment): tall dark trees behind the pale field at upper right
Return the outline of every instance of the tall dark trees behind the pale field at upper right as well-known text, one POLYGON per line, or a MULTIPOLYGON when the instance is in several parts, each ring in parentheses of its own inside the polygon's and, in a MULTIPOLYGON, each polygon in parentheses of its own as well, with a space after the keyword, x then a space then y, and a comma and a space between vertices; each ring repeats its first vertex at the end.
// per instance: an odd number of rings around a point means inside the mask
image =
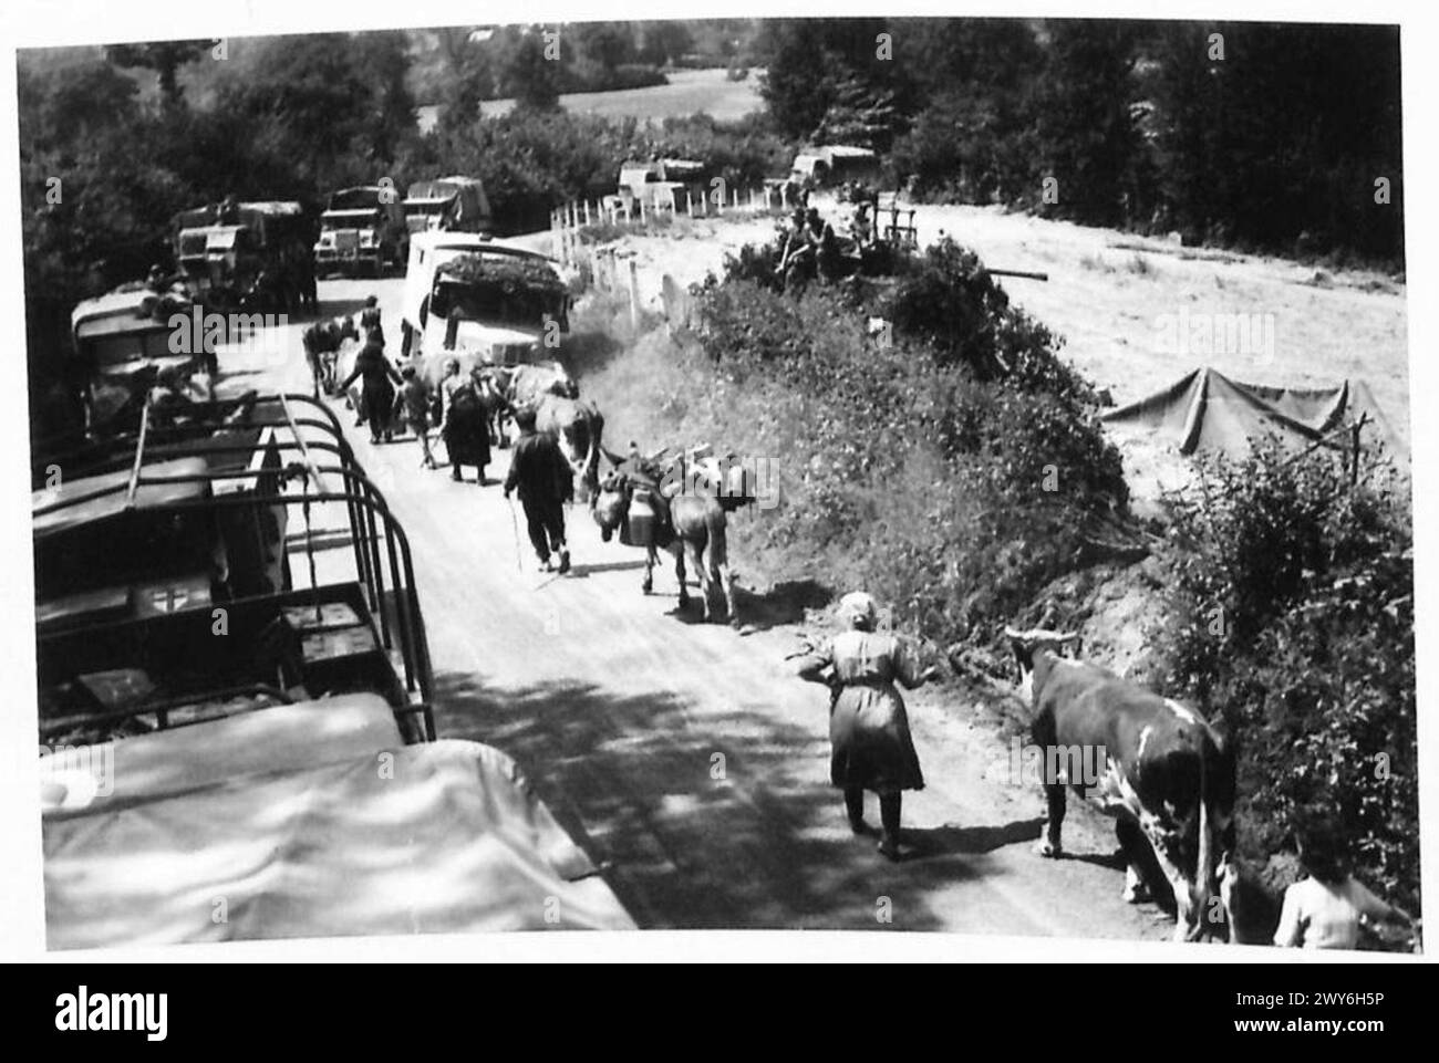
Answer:
POLYGON ((764 95, 780 128, 886 151, 892 180, 921 194, 1403 262, 1396 27, 767 26, 764 95))

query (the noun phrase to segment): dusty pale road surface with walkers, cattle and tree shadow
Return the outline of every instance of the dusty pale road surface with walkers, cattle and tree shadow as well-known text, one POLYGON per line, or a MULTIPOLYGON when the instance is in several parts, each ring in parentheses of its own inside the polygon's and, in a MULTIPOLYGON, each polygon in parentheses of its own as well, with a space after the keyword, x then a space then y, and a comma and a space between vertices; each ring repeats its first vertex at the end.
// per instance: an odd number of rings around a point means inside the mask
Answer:
MULTIPOLYGON (((322 312, 374 292, 397 335, 400 286, 322 282, 322 312)), ((224 390, 308 390, 301 328, 283 355, 226 351, 224 390)), ((741 597, 758 623, 740 633, 676 616, 672 568, 643 596, 640 552, 602 544, 583 506, 574 571, 544 575, 498 486, 508 452, 489 486, 452 483, 413 440, 374 447, 335 409, 410 535, 440 735, 514 755, 640 926, 1167 936, 1157 908, 1120 899, 1107 821, 1073 810, 1073 856, 1030 852, 1039 795, 1007 778, 1009 745, 960 693, 909 699, 928 787, 905 798, 915 854, 891 864, 829 787, 826 692, 783 660, 797 607, 741 597)))

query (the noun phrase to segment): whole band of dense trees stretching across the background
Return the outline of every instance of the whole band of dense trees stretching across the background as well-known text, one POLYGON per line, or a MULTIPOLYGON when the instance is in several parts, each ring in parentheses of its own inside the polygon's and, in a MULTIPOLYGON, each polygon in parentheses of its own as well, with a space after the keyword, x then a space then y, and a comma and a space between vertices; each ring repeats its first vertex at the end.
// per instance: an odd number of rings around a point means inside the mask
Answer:
MULTIPOLYGON (((511 232, 613 190, 652 152, 753 183, 803 141, 871 144, 918 194, 1281 252, 1402 265, 1397 30, 852 19, 330 33, 19 62, 27 337, 167 257, 176 211, 226 194, 318 210, 347 184, 481 177, 511 232), (1216 47, 1217 42, 1217 47, 1216 47), (695 55, 767 66, 735 127, 566 114, 561 92, 695 55), (426 56, 429 56, 426 59, 426 56), (440 56, 435 60, 435 56, 440 56), (416 125, 416 63, 439 62, 416 125), (153 76, 147 76, 153 75, 153 76), (587 81, 589 79, 589 81, 587 81), (518 101, 505 118, 484 99, 518 101), (1377 203, 1386 184, 1386 203, 1377 203), (1049 194, 1046 194, 1046 191, 1049 194)), ((72 50, 73 52, 73 50, 72 50)), ((636 75, 640 76, 640 75, 636 75)))

